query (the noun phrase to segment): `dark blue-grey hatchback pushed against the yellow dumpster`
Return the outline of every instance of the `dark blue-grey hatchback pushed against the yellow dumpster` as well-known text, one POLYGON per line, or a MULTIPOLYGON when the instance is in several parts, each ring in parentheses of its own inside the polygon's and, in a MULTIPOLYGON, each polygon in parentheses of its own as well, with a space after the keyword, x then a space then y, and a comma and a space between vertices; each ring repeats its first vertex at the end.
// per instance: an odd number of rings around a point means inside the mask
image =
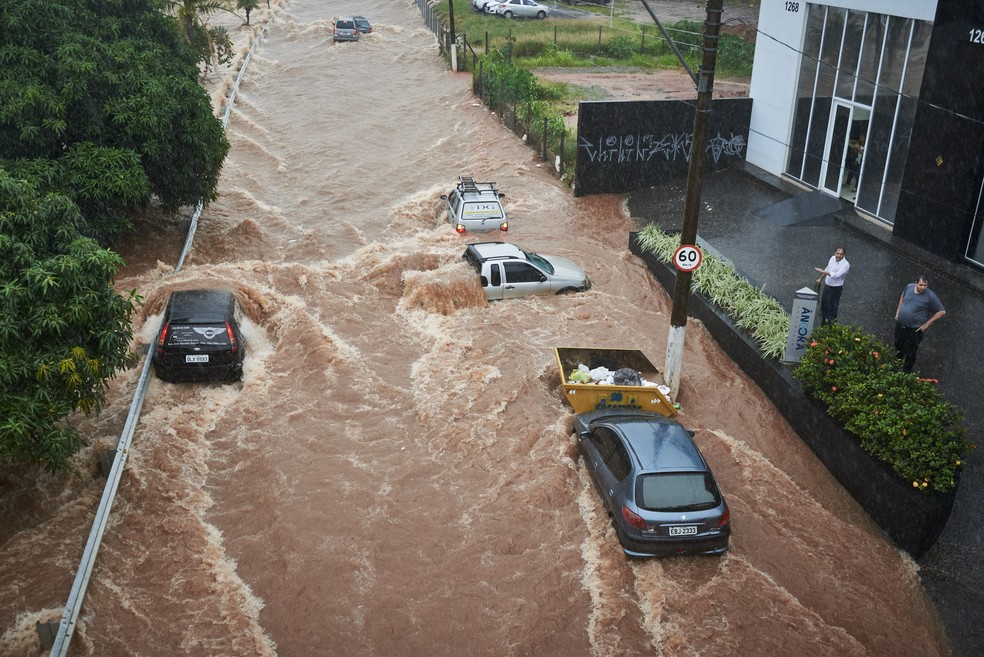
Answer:
POLYGON ((692 433, 661 415, 611 410, 575 418, 579 448, 630 556, 720 554, 731 511, 692 433))

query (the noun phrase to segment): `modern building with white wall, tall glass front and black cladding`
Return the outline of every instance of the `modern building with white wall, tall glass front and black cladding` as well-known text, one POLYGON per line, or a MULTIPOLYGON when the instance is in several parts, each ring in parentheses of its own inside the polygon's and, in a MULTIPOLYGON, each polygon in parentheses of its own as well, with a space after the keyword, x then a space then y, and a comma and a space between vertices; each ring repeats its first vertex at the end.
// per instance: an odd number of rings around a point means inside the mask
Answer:
POLYGON ((984 266, 981 70, 984 0, 763 0, 746 159, 984 266))

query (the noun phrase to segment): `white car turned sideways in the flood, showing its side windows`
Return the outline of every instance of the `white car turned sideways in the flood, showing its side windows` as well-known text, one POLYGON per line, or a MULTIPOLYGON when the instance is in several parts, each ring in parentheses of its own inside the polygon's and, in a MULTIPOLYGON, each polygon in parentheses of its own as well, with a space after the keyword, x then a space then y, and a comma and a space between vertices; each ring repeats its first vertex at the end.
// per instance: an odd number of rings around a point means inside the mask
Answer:
POLYGON ((489 301, 591 288, 591 279, 570 260, 508 242, 470 244, 462 257, 478 272, 489 301))

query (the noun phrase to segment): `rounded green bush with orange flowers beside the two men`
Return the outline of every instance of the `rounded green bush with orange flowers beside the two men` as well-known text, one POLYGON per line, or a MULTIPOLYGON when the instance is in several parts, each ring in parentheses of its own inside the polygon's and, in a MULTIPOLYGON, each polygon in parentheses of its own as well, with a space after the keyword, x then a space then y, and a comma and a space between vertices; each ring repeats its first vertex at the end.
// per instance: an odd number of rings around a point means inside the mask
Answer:
POLYGON ((913 488, 944 492, 971 446, 963 413, 935 379, 902 371, 894 349, 861 329, 828 324, 793 371, 803 390, 913 488))

